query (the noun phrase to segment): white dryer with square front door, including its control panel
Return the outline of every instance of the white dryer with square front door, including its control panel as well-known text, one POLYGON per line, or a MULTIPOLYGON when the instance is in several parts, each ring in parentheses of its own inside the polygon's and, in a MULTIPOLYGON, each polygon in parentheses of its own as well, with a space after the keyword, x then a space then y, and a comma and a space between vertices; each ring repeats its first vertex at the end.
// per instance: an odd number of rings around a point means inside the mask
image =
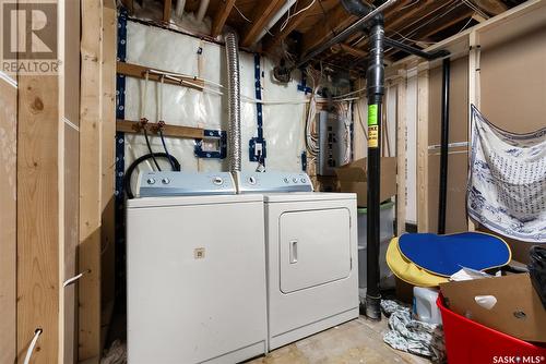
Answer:
POLYGON ((356 195, 312 192, 305 173, 240 173, 237 184, 264 194, 269 349, 357 318, 356 195))

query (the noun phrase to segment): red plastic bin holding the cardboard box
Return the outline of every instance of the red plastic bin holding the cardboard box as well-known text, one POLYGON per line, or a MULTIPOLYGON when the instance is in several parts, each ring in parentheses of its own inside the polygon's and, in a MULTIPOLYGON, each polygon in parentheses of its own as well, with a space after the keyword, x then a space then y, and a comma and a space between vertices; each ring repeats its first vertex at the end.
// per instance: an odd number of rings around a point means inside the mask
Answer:
POLYGON ((546 344, 517 339, 455 314, 443 305, 441 294, 436 304, 442 315, 449 364, 546 364, 546 344))

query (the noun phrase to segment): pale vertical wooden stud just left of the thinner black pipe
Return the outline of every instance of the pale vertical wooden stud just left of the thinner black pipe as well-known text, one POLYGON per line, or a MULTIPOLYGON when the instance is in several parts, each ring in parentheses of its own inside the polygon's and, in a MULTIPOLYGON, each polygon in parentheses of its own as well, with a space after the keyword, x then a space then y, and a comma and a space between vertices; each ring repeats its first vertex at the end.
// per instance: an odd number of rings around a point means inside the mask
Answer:
POLYGON ((428 232, 428 63, 417 75, 417 230, 428 232))

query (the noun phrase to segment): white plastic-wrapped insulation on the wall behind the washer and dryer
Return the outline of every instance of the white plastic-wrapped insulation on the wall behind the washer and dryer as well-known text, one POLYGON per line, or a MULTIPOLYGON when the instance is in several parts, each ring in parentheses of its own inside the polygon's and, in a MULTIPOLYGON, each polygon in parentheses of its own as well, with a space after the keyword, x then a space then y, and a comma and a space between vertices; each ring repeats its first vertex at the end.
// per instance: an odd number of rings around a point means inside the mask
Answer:
MULTIPOLYGON (((206 43, 179 33, 143 25, 127 23, 127 62, 155 68, 164 71, 197 75, 206 81, 227 86, 226 56, 223 46, 206 43), (199 54, 199 49, 202 49, 199 54)), ((249 141, 257 136, 257 110, 252 101, 254 90, 253 54, 239 52, 241 89, 241 144, 242 170, 253 171, 258 163, 249 161, 249 141)), ((297 81, 286 85, 273 81, 274 64, 261 58, 263 136, 266 141, 265 167, 269 171, 301 171, 304 144, 304 119, 308 97, 297 90, 297 81), (286 104, 271 105, 268 102, 286 104)), ((159 83, 150 81, 145 114, 141 114, 141 98, 144 80, 127 77, 126 119, 139 120, 143 117, 150 122, 157 122, 157 95, 159 83)), ((199 92, 187 87, 165 84, 163 86, 163 119, 167 124, 198 126, 223 131, 228 130, 227 87, 206 84, 211 90, 199 92), (223 95, 218 95, 221 92, 223 95)), ((155 153, 163 150, 157 136, 151 136, 155 153)), ((194 156, 194 141, 166 137, 169 153, 175 156, 185 171, 228 170, 228 158, 200 159, 194 156)), ((147 154, 142 135, 126 134, 126 168, 138 157, 147 154)), ((169 169, 166 160, 159 165, 169 169)), ((141 168, 151 169, 151 165, 141 163, 141 168)), ((136 173, 134 173, 136 175, 136 173)))

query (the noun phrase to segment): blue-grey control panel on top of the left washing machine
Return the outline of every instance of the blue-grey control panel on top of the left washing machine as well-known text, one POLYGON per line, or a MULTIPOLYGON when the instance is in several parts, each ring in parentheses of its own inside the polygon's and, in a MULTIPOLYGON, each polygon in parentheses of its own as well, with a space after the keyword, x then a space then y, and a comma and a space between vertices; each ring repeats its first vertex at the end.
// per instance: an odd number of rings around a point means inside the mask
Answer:
POLYGON ((228 172, 154 171, 139 175, 139 197, 235 195, 235 182, 228 172))

